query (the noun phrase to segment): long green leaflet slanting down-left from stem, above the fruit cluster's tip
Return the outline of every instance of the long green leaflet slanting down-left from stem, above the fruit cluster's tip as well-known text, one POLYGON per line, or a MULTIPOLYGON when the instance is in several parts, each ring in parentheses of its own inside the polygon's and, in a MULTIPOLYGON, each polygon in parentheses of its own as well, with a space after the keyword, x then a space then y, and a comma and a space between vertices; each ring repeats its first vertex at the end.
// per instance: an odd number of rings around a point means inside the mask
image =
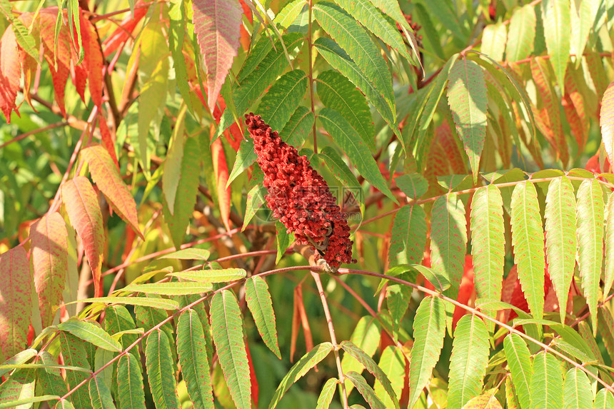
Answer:
MULTIPOLYGON (((268 41, 268 39, 267 39, 268 41)), ((303 42, 303 36, 298 33, 286 34, 283 36, 283 43, 286 45, 286 49, 291 50, 296 46, 299 46, 303 42)), ((252 103, 258 99, 259 96, 268 88, 273 81, 277 79, 283 73, 283 70, 288 66, 285 54, 283 54, 283 48, 281 44, 276 44, 276 49, 273 49, 266 54, 266 56, 259 61, 256 66, 258 69, 254 69, 251 74, 246 76, 241 81, 239 86, 233 86, 232 96, 236 106, 236 113, 243 115, 252 103)), ((215 141, 226 128, 234 122, 233 114, 231 110, 224 110, 220 123, 216 132, 216 136, 211 140, 215 141)), ((278 131, 278 130, 277 130, 278 131)))

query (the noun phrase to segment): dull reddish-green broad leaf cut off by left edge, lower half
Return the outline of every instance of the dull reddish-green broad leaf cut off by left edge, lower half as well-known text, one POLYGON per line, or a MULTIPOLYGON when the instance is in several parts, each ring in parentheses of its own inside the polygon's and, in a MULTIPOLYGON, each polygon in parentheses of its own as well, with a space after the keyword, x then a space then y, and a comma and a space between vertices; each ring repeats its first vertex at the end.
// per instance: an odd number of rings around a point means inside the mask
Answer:
POLYGON ((32 308, 28 255, 17 246, 0 256, 0 359, 26 346, 32 308))

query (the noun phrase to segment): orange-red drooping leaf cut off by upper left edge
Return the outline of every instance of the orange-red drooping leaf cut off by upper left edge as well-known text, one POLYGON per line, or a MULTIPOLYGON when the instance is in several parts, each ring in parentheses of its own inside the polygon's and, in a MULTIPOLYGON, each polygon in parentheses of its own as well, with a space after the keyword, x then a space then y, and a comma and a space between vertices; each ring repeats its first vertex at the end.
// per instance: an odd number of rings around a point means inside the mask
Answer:
POLYGON ((17 50, 13 28, 9 27, 0 39, 0 109, 4 113, 7 123, 11 123, 12 111, 19 114, 15 105, 19 80, 21 79, 17 50))

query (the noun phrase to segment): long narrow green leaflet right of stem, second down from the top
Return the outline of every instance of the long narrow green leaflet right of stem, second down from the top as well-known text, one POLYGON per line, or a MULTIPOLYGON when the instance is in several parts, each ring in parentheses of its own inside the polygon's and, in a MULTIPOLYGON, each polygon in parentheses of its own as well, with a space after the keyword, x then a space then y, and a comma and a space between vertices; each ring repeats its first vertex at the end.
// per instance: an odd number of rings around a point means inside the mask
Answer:
POLYGON ((327 39, 326 37, 316 39, 313 45, 316 46, 318 53, 324 57, 328 64, 331 64, 334 69, 340 71, 341 74, 346 76, 347 79, 352 81, 354 85, 358 86, 358 88, 363 91, 367 99, 376 107, 384 121, 388 123, 388 126, 396 131, 396 116, 393 110, 382 96, 381 91, 376 89, 373 81, 361 71, 356 62, 348 56, 346 51, 343 51, 335 41, 327 39))

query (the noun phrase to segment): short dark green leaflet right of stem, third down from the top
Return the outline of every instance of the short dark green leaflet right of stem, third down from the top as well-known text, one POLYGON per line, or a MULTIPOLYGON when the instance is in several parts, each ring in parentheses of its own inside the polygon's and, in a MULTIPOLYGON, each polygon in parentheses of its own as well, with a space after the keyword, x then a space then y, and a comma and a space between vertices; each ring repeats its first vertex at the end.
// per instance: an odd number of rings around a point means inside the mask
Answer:
POLYGON ((356 132, 367 143, 371 152, 375 152, 375 126, 371 118, 371 111, 361 91, 356 89, 345 76, 337 71, 324 71, 316 79, 318 96, 328 108, 341 113, 356 132))

